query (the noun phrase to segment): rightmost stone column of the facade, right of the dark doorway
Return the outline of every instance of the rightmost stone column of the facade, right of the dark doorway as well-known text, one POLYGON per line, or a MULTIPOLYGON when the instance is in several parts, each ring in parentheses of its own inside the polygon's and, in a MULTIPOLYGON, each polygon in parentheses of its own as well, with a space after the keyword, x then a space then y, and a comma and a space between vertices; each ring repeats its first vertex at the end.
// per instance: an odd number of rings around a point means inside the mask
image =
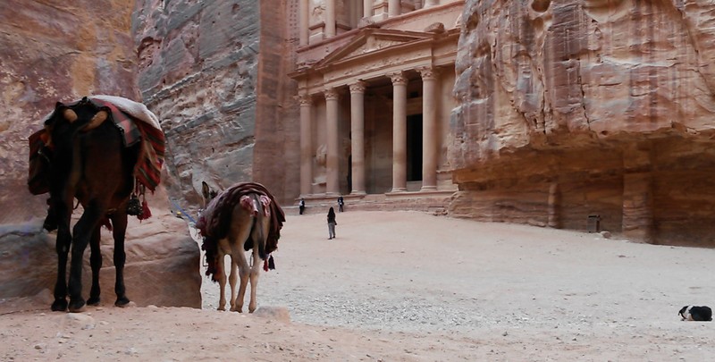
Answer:
POLYGON ((422 190, 437 189, 437 71, 418 69, 422 75, 422 190))

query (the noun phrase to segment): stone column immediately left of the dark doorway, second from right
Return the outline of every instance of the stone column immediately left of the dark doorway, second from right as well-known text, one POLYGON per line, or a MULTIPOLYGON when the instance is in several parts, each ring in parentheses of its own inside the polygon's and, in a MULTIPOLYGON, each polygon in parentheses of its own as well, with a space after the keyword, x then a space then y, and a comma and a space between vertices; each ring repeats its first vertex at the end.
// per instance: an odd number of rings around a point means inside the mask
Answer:
POLYGON ((392 192, 407 190, 408 79, 404 72, 388 74, 392 80, 392 192))

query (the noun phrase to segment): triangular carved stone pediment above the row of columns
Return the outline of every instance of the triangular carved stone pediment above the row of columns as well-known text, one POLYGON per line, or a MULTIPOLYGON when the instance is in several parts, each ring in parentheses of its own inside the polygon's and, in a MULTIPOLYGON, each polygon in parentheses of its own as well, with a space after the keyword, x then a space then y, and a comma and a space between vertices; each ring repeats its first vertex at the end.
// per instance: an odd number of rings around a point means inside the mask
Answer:
POLYGON ((332 63, 341 63, 350 58, 376 54, 385 49, 431 38, 433 38, 433 34, 418 31, 364 29, 349 43, 325 56, 323 60, 315 64, 315 67, 319 68, 332 63))

